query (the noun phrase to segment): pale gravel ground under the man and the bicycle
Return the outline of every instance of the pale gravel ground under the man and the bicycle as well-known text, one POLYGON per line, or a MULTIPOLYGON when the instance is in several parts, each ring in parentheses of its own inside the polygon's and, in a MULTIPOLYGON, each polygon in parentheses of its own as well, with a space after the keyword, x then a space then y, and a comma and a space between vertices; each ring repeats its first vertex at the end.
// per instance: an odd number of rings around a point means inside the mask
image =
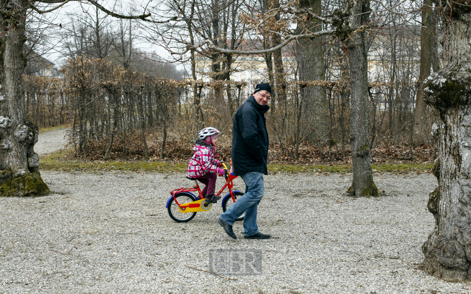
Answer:
POLYGON ((192 183, 183 173, 42 176, 54 194, 0 198, 1 294, 471 293, 423 270, 431 174, 375 174, 386 196, 360 199, 344 194, 351 174, 268 175, 258 213, 268 240, 242 238, 242 223, 230 239, 219 203, 172 221, 169 191, 192 183), (208 248, 261 250, 262 274, 200 271, 208 248))

